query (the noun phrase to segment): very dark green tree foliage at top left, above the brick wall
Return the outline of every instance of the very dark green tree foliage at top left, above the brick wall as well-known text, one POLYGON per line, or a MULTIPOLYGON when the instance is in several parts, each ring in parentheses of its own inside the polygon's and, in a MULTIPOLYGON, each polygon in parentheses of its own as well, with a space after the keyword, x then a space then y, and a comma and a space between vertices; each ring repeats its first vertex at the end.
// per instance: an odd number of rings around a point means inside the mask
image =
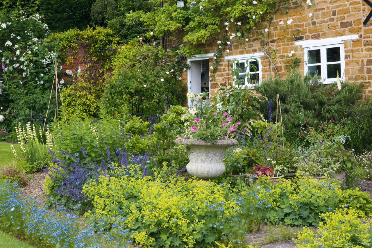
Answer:
POLYGON ((52 31, 83 29, 90 22, 90 7, 94 0, 39 0, 39 12, 52 31))

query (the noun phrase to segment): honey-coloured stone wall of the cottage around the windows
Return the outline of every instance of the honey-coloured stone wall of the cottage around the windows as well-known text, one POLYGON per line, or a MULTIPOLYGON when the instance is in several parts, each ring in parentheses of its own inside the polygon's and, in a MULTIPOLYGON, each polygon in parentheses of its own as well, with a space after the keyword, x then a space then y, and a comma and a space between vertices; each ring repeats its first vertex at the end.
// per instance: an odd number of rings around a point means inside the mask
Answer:
MULTIPOLYGON (((364 96, 372 95, 372 19, 366 26, 363 21, 371 11, 362 0, 318 0, 313 1, 312 6, 302 2, 301 6, 290 7, 288 17, 285 13, 277 12, 270 26, 269 50, 275 49, 277 58, 273 62, 281 78, 286 77, 288 70, 288 57, 285 57, 292 50, 296 51, 296 56, 301 58, 299 70, 304 73, 304 52, 302 46, 295 45, 295 42, 305 40, 316 40, 323 38, 334 38, 344 35, 357 35, 357 39, 344 41, 345 51, 345 80, 349 82, 363 82, 364 96), (310 18, 308 15, 312 13, 310 18), (285 24, 288 19, 293 22, 290 25, 280 25, 283 21, 285 24), (285 31, 285 27, 287 30, 285 31), (293 41, 291 37, 297 33, 293 41), (288 35, 289 34, 289 35, 288 35), (285 36, 288 36, 285 38, 285 36)), ((238 41, 232 41, 229 57, 239 54, 260 53, 260 40, 251 38, 248 42, 238 44, 238 41)), ((206 53, 214 53, 217 48, 217 42, 206 44, 203 50, 206 53)), ((224 51, 227 48, 224 48, 224 51)), ((215 74, 215 81, 211 82, 211 93, 214 95, 215 89, 219 85, 226 85, 228 82, 228 61, 225 60, 226 52, 223 53, 218 69, 215 74)), ((211 66, 213 58, 209 58, 211 66)), ((276 72, 269 59, 264 55, 261 57, 262 77, 267 79, 276 76, 276 72)), ((183 80, 187 83, 187 73, 183 73, 183 80)), ((231 82, 231 76, 230 76, 231 82)))

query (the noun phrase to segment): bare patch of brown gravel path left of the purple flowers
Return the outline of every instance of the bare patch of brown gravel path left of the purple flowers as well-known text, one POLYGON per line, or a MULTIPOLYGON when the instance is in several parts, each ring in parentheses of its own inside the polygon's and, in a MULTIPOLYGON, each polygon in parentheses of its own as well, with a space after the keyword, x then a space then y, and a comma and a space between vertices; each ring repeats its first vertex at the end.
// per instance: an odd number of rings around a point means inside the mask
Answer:
POLYGON ((46 169, 42 169, 39 172, 29 174, 31 177, 28 184, 21 188, 20 190, 23 191, 22 194, 20 194, 22 197, 30 196, 35 201, 39 200, 42 205, 45 204, 45 196, 41 191, 41 187, 44 184, 45 176, 47 175, 46 169))

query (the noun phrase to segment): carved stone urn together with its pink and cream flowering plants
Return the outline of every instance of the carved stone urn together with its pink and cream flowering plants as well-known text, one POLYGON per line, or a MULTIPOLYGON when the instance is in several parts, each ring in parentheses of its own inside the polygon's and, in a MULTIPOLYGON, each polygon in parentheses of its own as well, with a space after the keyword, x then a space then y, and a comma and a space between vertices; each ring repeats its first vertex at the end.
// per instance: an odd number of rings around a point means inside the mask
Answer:
POLYGON ((207 93, 188 96, 193 100, 192 106, 182 116, 185 132, 175 142, 187 147, 190 162, 186 169, 189 174, 200 179, 219 177, 225 171, 222 160, 226 149, 238 145, 230 134, 240 122, 235 120, 235 114, 228 107, 209 101, 207 93))

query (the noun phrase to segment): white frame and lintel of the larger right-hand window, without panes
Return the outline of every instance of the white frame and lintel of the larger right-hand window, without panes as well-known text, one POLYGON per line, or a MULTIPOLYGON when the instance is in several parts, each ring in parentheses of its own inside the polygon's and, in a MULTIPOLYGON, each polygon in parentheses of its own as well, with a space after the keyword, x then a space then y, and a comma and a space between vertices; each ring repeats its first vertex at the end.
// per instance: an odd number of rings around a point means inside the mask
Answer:
POLYGON ((295 45, 301 45, 304 49, 304 73, 308 72, 308 51, 320 50, 321 63, 310 64, 310 66, 320 65, 320 74, 324 80, 323 83, 334 83, 337 78, 327 78, 327 65, 328 64, 341 64, 341 71, 339 72, 339 78, 343 80, 345 78, 345 50, 344 41, 357 39, 358 35, 344 35, 335 38, 307 40, 296 42, 295 45), (327 48, 340 47, 340 61, 327 62, 327 48))

